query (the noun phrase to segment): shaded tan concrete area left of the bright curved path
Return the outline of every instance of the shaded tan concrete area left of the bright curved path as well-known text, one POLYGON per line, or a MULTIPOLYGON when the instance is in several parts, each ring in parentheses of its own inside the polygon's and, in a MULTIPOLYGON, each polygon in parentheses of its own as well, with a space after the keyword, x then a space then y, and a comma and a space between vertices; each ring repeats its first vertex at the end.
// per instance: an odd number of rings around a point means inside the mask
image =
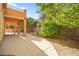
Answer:
POLYGON ((6 35, 0 47, 0 56, 47 56, 28 39, 24 40, 19 35, 6 35))

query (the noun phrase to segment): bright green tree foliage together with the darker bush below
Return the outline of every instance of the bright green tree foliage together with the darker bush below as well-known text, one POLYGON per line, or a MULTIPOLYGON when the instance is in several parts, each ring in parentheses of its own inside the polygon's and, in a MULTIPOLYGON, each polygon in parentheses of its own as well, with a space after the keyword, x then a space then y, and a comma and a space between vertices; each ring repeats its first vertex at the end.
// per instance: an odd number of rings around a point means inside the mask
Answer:
POLYGON ((40 7, 40 13, 45 14, 40 28, 43 36, 57 36, 63 27, 79 28, 79 4, 48 3, 37 6, 40 7))

